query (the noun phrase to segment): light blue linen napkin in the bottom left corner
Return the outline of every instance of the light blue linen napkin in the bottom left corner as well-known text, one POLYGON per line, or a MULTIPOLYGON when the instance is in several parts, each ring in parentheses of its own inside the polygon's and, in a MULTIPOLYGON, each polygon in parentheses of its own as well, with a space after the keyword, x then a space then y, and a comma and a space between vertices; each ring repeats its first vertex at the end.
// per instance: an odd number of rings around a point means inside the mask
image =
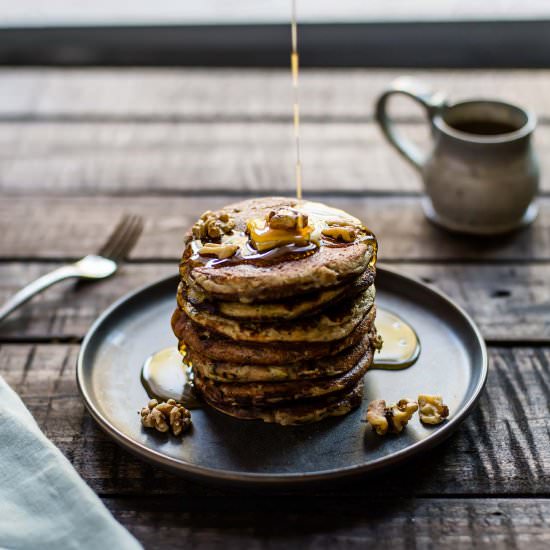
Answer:
POLYGON ((0 377, 0 547, 139 549, 0 377))

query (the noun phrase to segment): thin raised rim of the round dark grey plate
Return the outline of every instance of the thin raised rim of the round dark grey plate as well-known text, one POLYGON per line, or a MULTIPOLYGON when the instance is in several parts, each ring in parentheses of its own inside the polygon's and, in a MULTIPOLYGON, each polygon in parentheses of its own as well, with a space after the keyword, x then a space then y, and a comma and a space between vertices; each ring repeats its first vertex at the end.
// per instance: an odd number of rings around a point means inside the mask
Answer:
POLYGON ((124 449, 129 451, 134 456, 137 456, 141 459, 146 460, 149 463, 159 465, 167 470, 175 472, 177 474, 192 477, 197 480, 209 481, 209 482, 224 482, 237 485, 248 485, 248 486, 274 486, 274 485, 297 485, 303 483, 314 483, 320 481, 328 481, 340 478, 349 478, 351 476, 357 476, 361 474, 368 474, 374 471, 381 470, 383 468, 388 468, 394 465, 397 465, 410 457, 414 457, 417 454, 423 453, 437 444, 443 442, 449 436, 451 436, 459 425, 469 416, 473 408, 477 404, 477 401, 482 395, 483 389, 487 382, 487 376, 489 371, 489 359, 487 353, 487 346, 485 340, 481 334, 481 331, 471 318, 471 316, 459 306, 452 298, 447 296, 444 292, 437 288, 433 288, 423 281, 419 280, 416 277, 410 277, 408 275, 403 275, 397 271, 387 268, 387 267, 377 267, 377 273, 388 273, 392 277, 396 277, 405 281, 406 283, 413 283, 423 287, 425 290, 435 294, 447 303, 449 307, 455 310, 466 324, 469 326, 472 331, 477 344, 479 345, 479 350, 481 352, 480 363, 481 371, 479 379, 477 380, 475 388, 473 388, 470 398, 461 407, 460 412, 454 415, 450 420, 447 420, 446 423, 433 431, 432 434, 428 435, 424 439, 417 441, 411 445, 408 445, 404 449, 401 449, 389 456, 380 457, 372 462, 367 464, 357 464, 354 466, 336 468, 332 470, 320 470, 316 472, 305 472, 305 473, 253 473, 253 472, 235 472, 231 470, 220 470, 215 468, 209 468, 205 466, 199 466, 186 462, 184 460, 169 457, 159 451, 151 449, 147 445, 135 441, 130 436, 126 435, 124 432, 119 430, 116 426, 112 425, 108 419, 102 416, 101 412, 94 404, 94 400, 91 398, 90 394, 87 391, 87 385, 84 382, 84 356, 86 350, 90 345, 90 342, 98 333, 102 324, 106 322, 109 317, 121 306, 126 304, 129 300, 133 299, 137 295, 151 290, 155 286, 162 286, 166 284, 169 280, 174 279, 175 282, 179 279, 177 274, 168 275, 152 283, 147 283, 140 286, 136 290, 128 292, 123 295, 121 298, 113 302, 107 309, 99 315, 99 317, 92 323, 80 346, 78 352, 77 365, 76 365, 76 383, 79 390, 79 393, 84 401, 86 409, 92 416, 92 418, 98 423, 99 427, 112 437, 119 445, 124 449))

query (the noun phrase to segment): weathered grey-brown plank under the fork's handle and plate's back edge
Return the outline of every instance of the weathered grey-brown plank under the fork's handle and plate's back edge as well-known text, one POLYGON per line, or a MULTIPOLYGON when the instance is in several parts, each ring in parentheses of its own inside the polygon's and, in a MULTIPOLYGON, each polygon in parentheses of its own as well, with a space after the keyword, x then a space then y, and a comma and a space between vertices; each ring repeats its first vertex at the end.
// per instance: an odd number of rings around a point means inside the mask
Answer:
MULTIPOLYGON (((0 263, 0 303, 54 267, 50 263, 0 263)), ((397 269, 446 292, 473 316, 491 341, 550 342, 550 264, 399 264, 397 269)), ((57 285, 4 321, 0 340, 79 340, 120 296, 176 271, 175 261, 126 264, 106 281, 57 285)))

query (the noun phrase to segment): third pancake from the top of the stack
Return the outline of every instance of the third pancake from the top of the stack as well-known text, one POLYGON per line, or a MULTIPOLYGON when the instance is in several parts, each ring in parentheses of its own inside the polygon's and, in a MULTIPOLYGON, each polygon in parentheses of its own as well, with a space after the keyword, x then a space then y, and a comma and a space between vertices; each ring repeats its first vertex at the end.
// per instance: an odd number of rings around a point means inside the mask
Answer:
POLYGON ((294 321, 258 323, 210 313, 195 307, 185 295, 182 309, 195 323, 242 342, 328 342, 345 338, 374 304, 374 285, 357 297, 338 302, 315 316, 294 321))

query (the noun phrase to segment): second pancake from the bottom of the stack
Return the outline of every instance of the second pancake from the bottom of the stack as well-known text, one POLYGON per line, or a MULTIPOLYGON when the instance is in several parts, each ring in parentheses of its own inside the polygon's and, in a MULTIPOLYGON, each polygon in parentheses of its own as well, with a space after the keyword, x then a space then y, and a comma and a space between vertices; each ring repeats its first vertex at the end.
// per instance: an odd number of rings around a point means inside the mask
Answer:
POLYGON ((355 386, 372 364, 373 350, 360 357, 356 365, 339 376, 292 382, 216 382, 205 378, 193 367, 194 384, 199 394, 210 401, 224 405, 278 405, 297 400, 315 399, 333 393, 342 393, 355 386))

